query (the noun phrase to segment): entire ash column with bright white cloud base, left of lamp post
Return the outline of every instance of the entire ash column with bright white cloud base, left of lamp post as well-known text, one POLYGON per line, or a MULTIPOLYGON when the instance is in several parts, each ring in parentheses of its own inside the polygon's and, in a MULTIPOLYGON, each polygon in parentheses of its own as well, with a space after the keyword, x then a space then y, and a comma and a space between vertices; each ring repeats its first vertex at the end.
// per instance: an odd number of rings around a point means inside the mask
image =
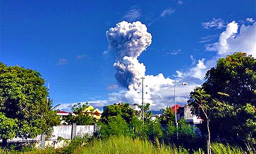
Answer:
POLYGON ((106 36, 109 48, 116 54, 116 62, 113 64, 116 70, 115 77, 120 85, 128 88, 127 91, 115 94, 118 98, 115 96, 114 99, 141 104, 142 92, 138 84, 141 84, 141 77, 144 76, 144 83, 148 85, 145 87, 145 92, 148 94, 144 95, 144 102, 159 108, 168 105, 174 80, 165 78, 161 73, 157 76, 145 76, 145 65, 137 59, 151 45, 152 36, 147 32, 147 27, 139 21, 133 23, 122 21, 116 24, 116 27, 110 28, 106 36))

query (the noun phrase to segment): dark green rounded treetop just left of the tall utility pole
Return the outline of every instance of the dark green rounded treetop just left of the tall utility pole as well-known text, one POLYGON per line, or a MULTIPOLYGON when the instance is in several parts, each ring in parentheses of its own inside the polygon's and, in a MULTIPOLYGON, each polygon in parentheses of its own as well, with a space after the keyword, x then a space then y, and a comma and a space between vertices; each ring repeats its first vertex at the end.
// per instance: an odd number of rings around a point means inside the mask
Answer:
POLYGON ((128 103, 120 105, 109 105, 107 106, 107 109, 102 113, 101 121, 105 124, 108 124, 108 120, 115 116, 122 117, 127 123, 130 124, 131 119, 135 116, 135 112, 129 107, 128 103))

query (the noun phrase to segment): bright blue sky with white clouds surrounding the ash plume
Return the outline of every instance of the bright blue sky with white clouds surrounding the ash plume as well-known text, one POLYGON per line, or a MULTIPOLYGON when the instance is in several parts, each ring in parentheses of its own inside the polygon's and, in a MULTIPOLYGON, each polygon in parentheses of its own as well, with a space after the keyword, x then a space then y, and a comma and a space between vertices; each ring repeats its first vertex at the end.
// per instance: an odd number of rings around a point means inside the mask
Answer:
POLYGON ((177 102, 184 104, 218 58, 235 51, 256 54, 255 0, 0 3, 0 61, 40 72, 62 110, 85 101, 94 106, 140 103, 139 88, 122 87, 116 80, 115 51, 108 48, 106 31, 122 21, 140 21, 152 36, 137 57, 146 67, 145 102, 152 109, 172 105, 173 87, 182 81, 188 85, 177 88, 177 102))

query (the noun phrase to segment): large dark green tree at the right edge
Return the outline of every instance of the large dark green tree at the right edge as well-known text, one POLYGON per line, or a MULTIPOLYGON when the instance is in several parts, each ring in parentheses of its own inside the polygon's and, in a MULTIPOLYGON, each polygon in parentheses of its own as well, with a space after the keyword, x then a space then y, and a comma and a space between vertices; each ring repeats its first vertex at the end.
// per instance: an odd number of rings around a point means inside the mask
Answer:
MULTIPOLYGON (((210 95, 208 111, 212 112, 212 137, 241 140, 256 144, 256 59, 246 53, 234 53, 218 60, 207 71, 201 89, 210 95)), ((194 103, 193 92, 189 104, 205 121, 205 115, 194 103)), ((204 122, 205 122, 204 121, 204 122)))

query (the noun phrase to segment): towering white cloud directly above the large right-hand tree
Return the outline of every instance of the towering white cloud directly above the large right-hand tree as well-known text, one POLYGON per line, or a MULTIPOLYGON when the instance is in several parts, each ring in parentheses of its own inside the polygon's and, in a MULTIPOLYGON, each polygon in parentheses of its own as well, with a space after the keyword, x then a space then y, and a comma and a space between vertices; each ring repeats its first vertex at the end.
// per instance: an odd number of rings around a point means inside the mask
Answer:
POLYGON ((218 51, 220 56, 245 52, 256 57, 256 22, 247 26, 243 24, 240 29, 238 23, 230 22, 226 30, 220 34, 219 41, 205 47, 208 51, 218 51))

